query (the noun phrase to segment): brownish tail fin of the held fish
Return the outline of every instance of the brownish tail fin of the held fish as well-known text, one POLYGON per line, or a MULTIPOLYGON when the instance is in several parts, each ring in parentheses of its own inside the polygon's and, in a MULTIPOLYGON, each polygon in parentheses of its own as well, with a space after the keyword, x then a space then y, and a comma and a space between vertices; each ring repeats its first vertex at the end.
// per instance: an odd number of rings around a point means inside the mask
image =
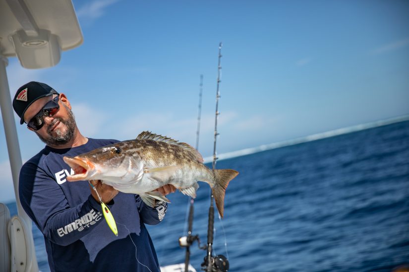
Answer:
POLYGON ((215 182, 212 187, 215 197, 216 207, 221 217, 223 217, 225 193, 229 182, 238 175, 238 172, 232 169, 220 169, 214 171, 215 182))

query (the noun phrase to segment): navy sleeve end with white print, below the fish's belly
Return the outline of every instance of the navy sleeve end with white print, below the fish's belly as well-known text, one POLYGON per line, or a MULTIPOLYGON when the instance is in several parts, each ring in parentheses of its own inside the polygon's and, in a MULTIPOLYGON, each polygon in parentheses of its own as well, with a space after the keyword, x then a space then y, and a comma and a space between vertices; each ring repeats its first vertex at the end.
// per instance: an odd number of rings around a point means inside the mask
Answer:
POLYGON ((156 201, 154 208, 146 205, 139 195, 135 195, 136 206, 138 207, 139 216, 143 223, 148 225, 156 225, 163 220, 168 209, 168 203, 164 201, 156 201))

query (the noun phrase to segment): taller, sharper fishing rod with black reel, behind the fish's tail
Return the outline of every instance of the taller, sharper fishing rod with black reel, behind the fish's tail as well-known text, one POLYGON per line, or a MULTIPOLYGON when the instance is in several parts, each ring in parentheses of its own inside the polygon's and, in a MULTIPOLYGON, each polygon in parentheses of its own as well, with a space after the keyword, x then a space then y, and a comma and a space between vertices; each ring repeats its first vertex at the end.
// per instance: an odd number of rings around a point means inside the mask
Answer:
MULTIPOLYGON (((217 119, 220 115, 219 112, 219 98, 220 98, 220 71, 222 69, 221 66, 221 58, 222 58, 222 43, 219 44, 219 58, 218 58, 218 65, 217 65, 217 89, 216 89, 216 114, 215 114, 215 132, 214 132, 214 145, 213 145, 213 162, 212 162, 212 169, 213 171, 216 168, 216 141, 217 136, 219 133, 217 132, 217 119)), ((214 228, 214 219, 215 219, 215 209, 214 209, 214 196, 213 192, 210 195, 210 208, 209 208, 209 223, 207 229, 207 255, 204 258, 204 262, 202 263, 202 270, 206 272, 227 272, 229 270, 229 261, 223 255, 213 256, 213 228, 214 228)))

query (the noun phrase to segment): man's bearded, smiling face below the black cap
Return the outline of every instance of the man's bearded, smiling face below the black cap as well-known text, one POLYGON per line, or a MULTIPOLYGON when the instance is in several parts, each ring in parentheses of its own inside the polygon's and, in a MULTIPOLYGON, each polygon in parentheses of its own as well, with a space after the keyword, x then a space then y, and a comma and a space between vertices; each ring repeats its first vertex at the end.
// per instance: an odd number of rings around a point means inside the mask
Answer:
MULTIPOLYGON (((57 95, 50 95, 47 97, 42 97, 36 100, 27 111, 24 113, 24 121, 28 123, 51 99, 55 98, 57 95)), ((52 116, 43 116, 44 126, 34 131, 39 138, 49 146, 59 146, 69 142, 73 136, 76 129, 74 115, 70 110, 70 105, 65 95, 60 94, 60 99, 58 100, 59 110, 52 116)))

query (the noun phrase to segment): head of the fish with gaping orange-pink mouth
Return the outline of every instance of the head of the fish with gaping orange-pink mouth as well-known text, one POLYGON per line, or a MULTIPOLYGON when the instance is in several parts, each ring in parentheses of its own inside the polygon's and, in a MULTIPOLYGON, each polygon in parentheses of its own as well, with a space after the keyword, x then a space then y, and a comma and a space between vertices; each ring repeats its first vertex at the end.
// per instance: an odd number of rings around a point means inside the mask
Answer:
POLYGON ((63 160, 73 170, 67 181, 103 180, 131 181, 143 174, 142 161, 129 152, 127 142, 103 146, 63 160))

